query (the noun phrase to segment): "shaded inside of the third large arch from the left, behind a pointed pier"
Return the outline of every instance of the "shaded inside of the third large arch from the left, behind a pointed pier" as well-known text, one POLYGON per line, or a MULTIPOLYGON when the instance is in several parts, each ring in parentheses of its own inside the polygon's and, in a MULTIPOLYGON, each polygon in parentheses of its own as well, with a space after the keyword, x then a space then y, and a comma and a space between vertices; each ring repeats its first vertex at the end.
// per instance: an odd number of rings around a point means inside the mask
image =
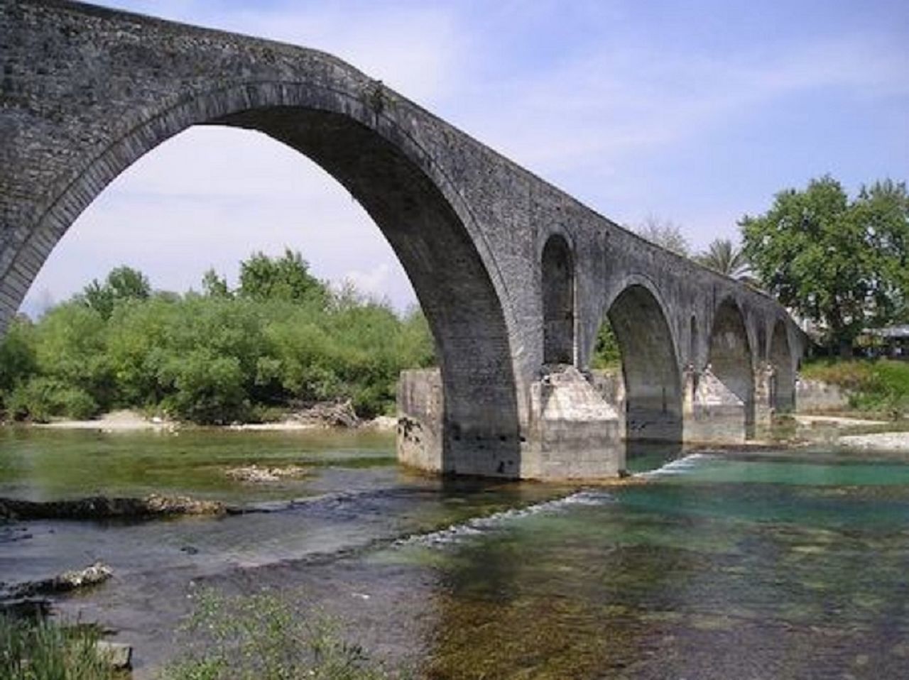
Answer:
POLYGON ((716 310, 707 357, 714 376, 742 402, 745 437, 754 436, 754 366, 738 305, 726 298, 716 310))

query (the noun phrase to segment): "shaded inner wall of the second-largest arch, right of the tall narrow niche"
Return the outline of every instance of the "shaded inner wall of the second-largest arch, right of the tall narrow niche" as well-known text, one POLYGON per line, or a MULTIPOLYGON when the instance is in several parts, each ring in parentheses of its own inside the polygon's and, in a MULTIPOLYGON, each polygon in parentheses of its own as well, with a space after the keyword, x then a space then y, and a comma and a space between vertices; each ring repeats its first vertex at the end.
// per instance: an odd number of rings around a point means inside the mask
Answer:
POLYGON ((663 307, 644 285, 629 285, 610 305, 606 320, 622 358, 625 438, 681 442, 683 387, 663 307))

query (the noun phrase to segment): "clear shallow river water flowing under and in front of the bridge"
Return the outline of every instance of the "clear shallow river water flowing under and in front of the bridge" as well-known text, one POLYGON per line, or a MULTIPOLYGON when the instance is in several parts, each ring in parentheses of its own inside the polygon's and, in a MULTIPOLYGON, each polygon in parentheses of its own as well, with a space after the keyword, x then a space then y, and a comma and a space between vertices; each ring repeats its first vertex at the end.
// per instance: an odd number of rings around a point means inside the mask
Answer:
POLYGON ((184 493, 270 514, 0 527, 0 580, 115 578, 57 603, 115 627, 138 676, 199 585, 304 597, 431 678, 904 677, 909 453, 639 458, 645 485, 443 482, 385 435, 0 433, 0 495, 184 493), (310 465, 276 485, 225 465, 310 465), (28 536, 28 537, 25 537, 28 536), (300 595, 302 594, 302 595, 300 595))

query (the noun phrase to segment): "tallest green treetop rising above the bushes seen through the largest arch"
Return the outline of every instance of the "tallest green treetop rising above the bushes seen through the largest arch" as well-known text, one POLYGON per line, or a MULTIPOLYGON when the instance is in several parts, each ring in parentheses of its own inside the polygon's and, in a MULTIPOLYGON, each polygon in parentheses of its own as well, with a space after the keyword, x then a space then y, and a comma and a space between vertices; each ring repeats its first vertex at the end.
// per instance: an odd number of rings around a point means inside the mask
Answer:
POLYGON ((309 265, 303 257, 285 248, 282 257, 269 257, 260 252, 241 262, 238 295, 259 301, 318 300, 325 303, 327 290, 309 273, 309 265))

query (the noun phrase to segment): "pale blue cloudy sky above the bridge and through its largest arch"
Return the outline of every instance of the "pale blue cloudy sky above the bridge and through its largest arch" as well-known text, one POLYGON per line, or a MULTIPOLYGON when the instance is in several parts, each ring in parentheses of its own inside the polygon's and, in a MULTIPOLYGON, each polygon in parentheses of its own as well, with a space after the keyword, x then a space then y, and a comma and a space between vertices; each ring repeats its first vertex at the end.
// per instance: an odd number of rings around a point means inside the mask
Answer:
MULTIPOLYGON (((776 192, 909 180, 909 3, 704 0, 111 0, 314 47, 381 79, 623 225, 735 239, 776 192)), ((156 288, 235 281, 254 251, 405 309, 415 296, 365 212, 305 156, 191 128, 109 185, 47 259, 40 314, 117 265, 156 288), (136 245, 141 235, 141 247, 136 245)))

